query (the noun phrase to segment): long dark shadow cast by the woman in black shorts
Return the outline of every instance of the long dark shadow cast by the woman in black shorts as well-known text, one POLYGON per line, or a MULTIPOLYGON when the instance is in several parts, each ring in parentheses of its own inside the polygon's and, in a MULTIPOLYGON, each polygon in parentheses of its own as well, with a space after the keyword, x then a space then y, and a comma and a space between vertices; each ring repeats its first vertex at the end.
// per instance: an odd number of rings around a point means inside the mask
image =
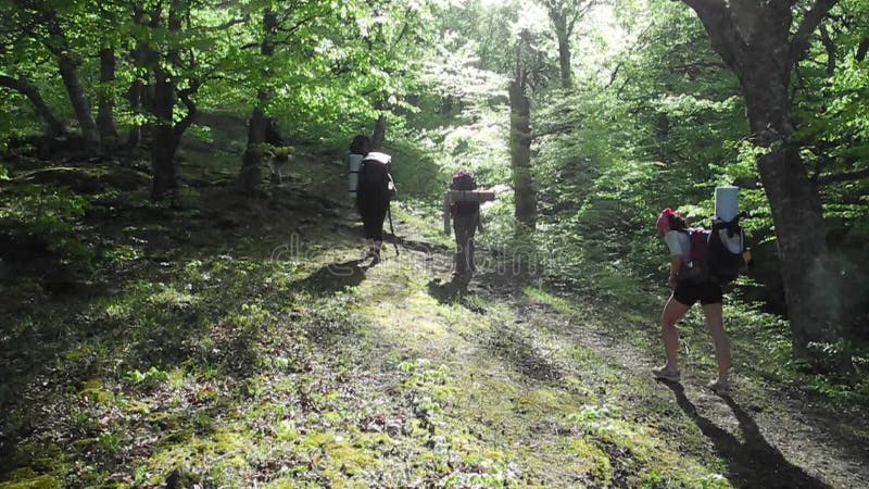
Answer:
POLYGON ((828 488, 830 486, 808 475, 801 467, 788 462, 781 452, 769 444, 757 424, 729 396, 722 397, 740 424, 744 441, 702 416, 688 399, 679 384, 664 383, 676 394, 679 408, 697 425, 703 435, 714 444, 729 467, 727 478, 738 487, 758 488, 828 488))

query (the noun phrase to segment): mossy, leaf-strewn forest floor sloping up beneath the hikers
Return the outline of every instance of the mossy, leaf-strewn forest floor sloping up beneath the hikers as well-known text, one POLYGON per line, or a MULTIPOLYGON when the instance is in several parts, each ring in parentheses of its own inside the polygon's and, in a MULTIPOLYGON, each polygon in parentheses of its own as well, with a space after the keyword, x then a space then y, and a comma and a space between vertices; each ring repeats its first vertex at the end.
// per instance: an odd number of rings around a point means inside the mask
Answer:
POLYGON ((0 286, 0 488, 869 485, 861 406, 764 376, 739 311, 732 398, 697 316, 656 384, 660 297, 452 280, 411 209, 368 267, 337 165, 255 199, 194 170, 174 204, 3 188, 43 211, 0 215, 42 250, 0 286))

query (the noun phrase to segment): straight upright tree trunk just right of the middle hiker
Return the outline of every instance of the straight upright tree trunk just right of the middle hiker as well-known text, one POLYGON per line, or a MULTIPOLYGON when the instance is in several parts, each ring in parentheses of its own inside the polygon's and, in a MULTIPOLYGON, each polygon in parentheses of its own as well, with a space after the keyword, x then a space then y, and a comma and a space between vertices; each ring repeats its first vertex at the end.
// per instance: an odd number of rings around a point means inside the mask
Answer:
POLYGON ((537 227, 537 191, 531 173, 531 104, 521 84, 509 85, 509 153, 515 191, 517 233, 537 227))

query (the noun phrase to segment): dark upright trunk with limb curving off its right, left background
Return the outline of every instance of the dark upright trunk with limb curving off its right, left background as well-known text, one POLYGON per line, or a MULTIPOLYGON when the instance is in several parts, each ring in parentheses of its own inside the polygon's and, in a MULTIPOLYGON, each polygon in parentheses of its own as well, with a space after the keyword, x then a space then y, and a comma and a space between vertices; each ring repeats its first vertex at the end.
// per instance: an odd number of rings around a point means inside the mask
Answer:
POLYGON ((175 152, 178 150, 179 138, 176 138, 173 127, 177 90, 168 73, 161 68, 154 70, 156 84, 154 85, 154 115, 158 117, 151 142, 151 199, 160 200, 177 191, 175 152))

